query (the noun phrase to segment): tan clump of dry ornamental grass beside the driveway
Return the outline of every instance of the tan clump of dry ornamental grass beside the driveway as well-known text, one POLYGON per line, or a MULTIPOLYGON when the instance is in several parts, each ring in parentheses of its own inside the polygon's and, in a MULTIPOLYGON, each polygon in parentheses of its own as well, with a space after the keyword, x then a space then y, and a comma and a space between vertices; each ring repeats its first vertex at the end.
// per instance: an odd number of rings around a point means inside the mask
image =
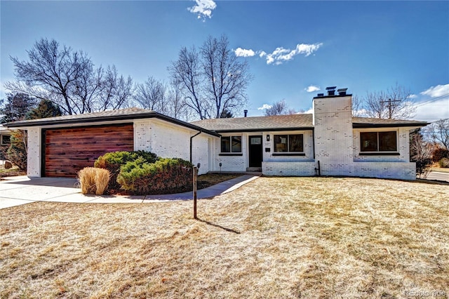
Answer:
POLYGON ((82 194, 105 194, 109 183, 109 171, 102 168, 86 167, 78 172, 82 194))

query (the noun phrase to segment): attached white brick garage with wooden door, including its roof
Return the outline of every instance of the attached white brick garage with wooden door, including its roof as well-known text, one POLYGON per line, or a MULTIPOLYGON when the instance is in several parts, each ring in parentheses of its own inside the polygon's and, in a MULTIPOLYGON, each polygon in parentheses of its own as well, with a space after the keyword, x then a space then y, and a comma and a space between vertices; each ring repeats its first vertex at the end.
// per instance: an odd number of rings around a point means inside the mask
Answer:
POLYGON ((145 150, 159 157, 191 159, 210 171, 208 142, 220 134, 158 112, 126 108, 30 119, 6 124, 28 133, 27 175, 75 177, 102 154, 145 150))

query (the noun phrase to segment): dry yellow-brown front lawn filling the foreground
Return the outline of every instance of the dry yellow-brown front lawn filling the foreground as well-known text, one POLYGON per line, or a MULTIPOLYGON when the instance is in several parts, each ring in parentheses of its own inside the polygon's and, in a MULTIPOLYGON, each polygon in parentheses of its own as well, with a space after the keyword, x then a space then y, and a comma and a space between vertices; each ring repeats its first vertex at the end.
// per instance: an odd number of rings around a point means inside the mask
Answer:
MULTIPOLYGON (((199 201, 0 210, 1 298, 449 292, 448 185, 258 178, 199 201)), ((411 296, 410 296, 411 297, 411 296)))

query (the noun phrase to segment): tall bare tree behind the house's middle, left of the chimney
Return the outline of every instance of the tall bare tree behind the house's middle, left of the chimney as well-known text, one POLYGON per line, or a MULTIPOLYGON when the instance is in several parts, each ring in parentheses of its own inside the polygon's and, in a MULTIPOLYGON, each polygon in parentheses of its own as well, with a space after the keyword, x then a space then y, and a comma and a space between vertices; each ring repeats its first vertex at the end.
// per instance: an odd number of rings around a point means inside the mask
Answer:
POLYGON ((246 88, 252 79, 247 62, 240 62, 226 36, 209 36, 196 51, 182 48, 168 67, 173 81, 180 82, 186 104, 200 119, 220 118, 246 104, 246 88))

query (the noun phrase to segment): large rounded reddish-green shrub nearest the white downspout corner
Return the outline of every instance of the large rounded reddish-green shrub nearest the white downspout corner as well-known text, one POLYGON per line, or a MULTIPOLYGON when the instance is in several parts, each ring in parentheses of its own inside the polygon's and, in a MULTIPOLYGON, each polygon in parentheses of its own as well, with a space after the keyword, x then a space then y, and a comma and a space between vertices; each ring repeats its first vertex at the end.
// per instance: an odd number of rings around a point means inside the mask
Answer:
POLYGON ((142 157, 121 167, 117 182, 133 194, 167 194, 192 190, 193 164, 159 158, 149 164, 142 157))

